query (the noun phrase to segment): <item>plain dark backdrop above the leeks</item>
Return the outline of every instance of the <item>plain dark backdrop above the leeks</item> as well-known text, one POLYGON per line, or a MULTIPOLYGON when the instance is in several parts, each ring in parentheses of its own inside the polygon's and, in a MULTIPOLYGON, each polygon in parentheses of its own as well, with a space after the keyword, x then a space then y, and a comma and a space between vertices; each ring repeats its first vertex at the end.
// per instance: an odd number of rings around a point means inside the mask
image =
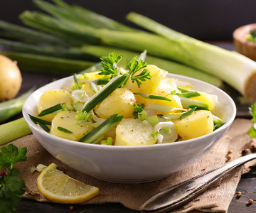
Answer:
MULTIPOLYGON (((130 11, 200 40, 232 40, 235 28, 256 23, 256 0, 65 0, 116 21, 130 11)), ((36 10, 32 0, 0 0, 0 19, 22 24, 18 15, 36 10)), ((38 10, 38 9, 37 9, 38 10)))

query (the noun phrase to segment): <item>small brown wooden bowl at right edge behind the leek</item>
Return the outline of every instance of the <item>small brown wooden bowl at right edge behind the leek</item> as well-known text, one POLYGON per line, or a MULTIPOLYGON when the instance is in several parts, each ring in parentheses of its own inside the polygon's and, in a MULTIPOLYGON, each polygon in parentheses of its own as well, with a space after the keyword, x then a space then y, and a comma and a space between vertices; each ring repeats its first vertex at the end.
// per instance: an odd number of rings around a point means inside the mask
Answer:
POLYGON ((250 34, 250 31, 255 29, 256 23, 241 26, 234 31, 233 38, 238 53, 256 61, 256 43, 246 39, 247 35, 250 34))

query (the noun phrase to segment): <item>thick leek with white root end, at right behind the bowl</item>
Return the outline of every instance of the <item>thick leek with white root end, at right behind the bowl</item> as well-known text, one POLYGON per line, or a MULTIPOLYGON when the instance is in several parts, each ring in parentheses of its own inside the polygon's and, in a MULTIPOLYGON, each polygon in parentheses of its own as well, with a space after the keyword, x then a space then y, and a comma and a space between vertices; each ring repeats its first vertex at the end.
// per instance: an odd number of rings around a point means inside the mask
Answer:
POLYGON ((169 40, 171 59, 218 76, 237 89, 250 102, 256 101, 255 61, 239 53, 233 53, 173 31, 137 13, 129 13, 127 19, 169 40))

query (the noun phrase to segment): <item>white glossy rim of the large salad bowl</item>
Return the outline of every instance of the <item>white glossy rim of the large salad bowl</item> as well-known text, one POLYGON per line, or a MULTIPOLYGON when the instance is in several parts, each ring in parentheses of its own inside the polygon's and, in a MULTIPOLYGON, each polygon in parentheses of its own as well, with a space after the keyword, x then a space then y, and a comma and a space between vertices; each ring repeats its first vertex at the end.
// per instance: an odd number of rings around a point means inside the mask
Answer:
MULTIPOLYGON (((132 151, 145 151, 145 150, 151 150, 151 149, 156 149, 156 148, 165 148, 166 146, 178 146, 178 144, 191 144, 194 141, 198 141, 198 140, 204 140, 208 137, 214 137, 217 136, 220 131, 224 131, 224 129, 228 130, 228 128, 230 127, 230 125, 233 123, 235 116, 236 116, 236 106, 235 106, 235 102, 233 101, 233 99, 226 93, 224 92, 222 89, 219 89, 218 87, 215 87, 212 84, 209 84, 208 82, 203 82, 202 80, 197 80, 193 77, 187 77, 187 76, 183 76, 183 75, 176 75, 173 73, 168 73, 167 75, 171 75, 171 77, 176 78, 178 80, 187 80, 188 82, 190 80, 192 81, 198 81, 201 84, 206 84, 206 86, 208 87, 213 87, 213 89, 216 89, 218 92, 222 93, 225 95, 225 98, 228 99, 228 102, 231 106, 231 109, 233 109, 233 112, 230 114, 230 118, 228 119, 228 121, 226 121, 226 123, 221 126, 219 129, 208 133, 204 136, 200 136, 198 138, 192 138, 192 139, 188 139, 186 141, 178 141, 175 143, 160 143, 160 144, 154 144, 154 146, 102 146, 100 144, 94 144, 94 143, 83 143, 83 142, 79 142, 79 141, 71 141, 65 138, 59 138, 58 136, 53 136, 50 133, 47 133, 46 131, 43 131, 43 129, 40 129, 38 126, 36 126, 36 124, 34 124, 31 119, 29 119, 28 113, 26 111, 26 106, 29 105, 29 99, 31 99, 31 97, 33 96, 33 94, 35 94, 36 92, 38 92, 39 89, 43 89, 44 87, 48 87, 50 84, 55 84, 58 81, 64 81, 64 80, 68 80, 69 78, 73 77, 73 75, 68 76, 68 77, 64 77, 61 78, 60 80, 56 80, 55 82, 50 82, 49 84, 44 85, 43 87, 40 87, 38 89, 36 89, 27 99, 26 102, 23 104, 23 108, 22 108, 22 114, 23 117, 26 121, 26 123, 28 124, 28 126, 30 127, 30 129, 32 128, 33 131, 38 131, 39 134, 43 134, 43 136, 45 136, 48 139, 52 139, 52 141, 59 141, 62 142, 63 144, 66 145, 71 145, 71 146, 75 146, 77 148, 96 148, 96 149, 104 149, 104 150, 112 150, 112 151, 126 151, 126 150, 132 150, 132 151)), ((58 88, 56 88, 58 89, 58 88)), ((31 129, 31 131, 32 131, 31 129)), ((33 132, 32 131, 32 132, 33 132)))

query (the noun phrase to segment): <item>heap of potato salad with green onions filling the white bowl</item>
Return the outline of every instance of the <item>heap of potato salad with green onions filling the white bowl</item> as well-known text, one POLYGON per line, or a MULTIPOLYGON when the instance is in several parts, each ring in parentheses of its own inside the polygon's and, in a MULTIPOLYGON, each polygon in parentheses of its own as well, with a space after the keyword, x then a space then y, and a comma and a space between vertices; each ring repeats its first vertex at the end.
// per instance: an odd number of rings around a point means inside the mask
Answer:
POLYGON ((54 136, 109 146, 174 143, 206 135, 224 124, 218 98, 190 82, 166 77, 144 56, 118 67, 122 55, 101 58, 102 69, 74 75, 38 100, 31 120, 54 136))

